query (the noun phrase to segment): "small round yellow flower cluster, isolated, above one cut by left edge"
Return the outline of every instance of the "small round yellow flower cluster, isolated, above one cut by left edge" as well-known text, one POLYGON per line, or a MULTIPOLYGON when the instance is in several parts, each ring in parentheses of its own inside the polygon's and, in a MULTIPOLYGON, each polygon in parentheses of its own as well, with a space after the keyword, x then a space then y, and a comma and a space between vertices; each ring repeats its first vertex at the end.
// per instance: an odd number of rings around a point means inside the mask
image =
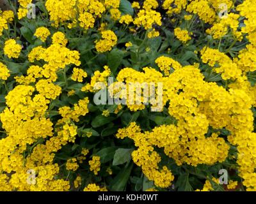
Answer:
POLYGON ((17 44, 15 40, 10 39, 4 42, 4 54, 9 58, 18 58, 21 51, 21 45, 17 44))

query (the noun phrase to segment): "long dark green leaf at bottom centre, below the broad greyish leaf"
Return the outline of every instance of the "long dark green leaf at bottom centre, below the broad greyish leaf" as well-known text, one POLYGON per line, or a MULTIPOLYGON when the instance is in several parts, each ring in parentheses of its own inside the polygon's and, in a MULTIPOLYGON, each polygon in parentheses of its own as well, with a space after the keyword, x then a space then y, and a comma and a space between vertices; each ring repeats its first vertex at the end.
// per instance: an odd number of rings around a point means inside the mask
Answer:
POLYGON ((111 191, 124 191, 131 174, 132 166, 133 164, 131 163, 127 168, 120 171, 115 179, 110 182, 109 189, 111 189, 111 191))

